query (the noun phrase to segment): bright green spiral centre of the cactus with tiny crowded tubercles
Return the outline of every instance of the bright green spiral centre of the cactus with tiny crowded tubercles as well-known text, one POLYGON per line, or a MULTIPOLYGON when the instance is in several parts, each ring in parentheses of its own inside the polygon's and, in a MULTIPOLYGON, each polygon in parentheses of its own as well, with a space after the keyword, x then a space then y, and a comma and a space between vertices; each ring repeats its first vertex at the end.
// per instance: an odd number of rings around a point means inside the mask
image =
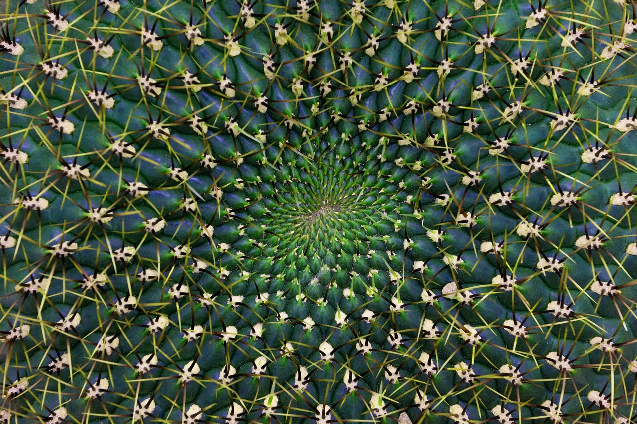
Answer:
POLYGON ((277 178, 269 192, 262 190, 269 193, 262 199, 266 212, 252 218, 267 229, 266 251, 272 251, 266 257, 290 255, 299 272, 350 272, 370 250, 402 248, 403 237, 395 235, 404 215, 413 212, 406 198, 417 186, 392 183, 399 167, 369 156, 343 161, 326 149, 306 168, 297 164, 289 177, 277 178))

